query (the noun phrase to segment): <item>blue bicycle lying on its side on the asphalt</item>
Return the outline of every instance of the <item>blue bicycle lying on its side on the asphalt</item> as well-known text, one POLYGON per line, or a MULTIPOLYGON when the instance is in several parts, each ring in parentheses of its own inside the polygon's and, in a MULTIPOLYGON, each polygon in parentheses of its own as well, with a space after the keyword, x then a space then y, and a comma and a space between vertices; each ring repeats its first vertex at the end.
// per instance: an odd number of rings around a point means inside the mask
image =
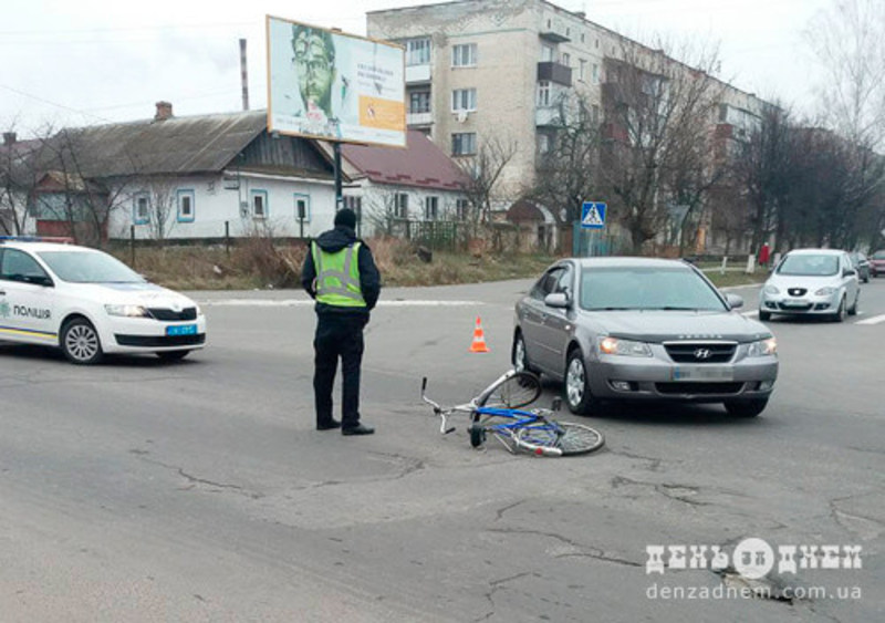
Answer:
POLYGON ((531 372, 510 370, 498 377, 469 403, 442 407, 426 395, 427 377, 421 382, 421 399, 434 407, 442 418, 439 432, 455 430, 448 417, 456 413, 470 416, 470 445, 482 447, 488 434, 497 438, 511 453, 527 450, 538 456, 566 456, 592 453, 605 443, 602 433, 583 424, 556 422, 554 409, 562 403, 556 398, 553 409, 522 411, 541 395, 541 380, 531 372))

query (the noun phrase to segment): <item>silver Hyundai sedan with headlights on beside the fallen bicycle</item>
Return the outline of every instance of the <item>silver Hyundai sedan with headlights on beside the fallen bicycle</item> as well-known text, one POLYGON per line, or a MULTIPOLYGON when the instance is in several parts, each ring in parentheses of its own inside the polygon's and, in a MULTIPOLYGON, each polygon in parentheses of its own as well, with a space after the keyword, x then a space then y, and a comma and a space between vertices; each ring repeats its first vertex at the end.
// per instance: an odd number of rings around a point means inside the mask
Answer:
POLYGON ((604 401, 722 403, 753 417, 778 376, 777 342, 678 260, 565 259, 517 302, 513 364, 564 382, 574 413, 604 401))

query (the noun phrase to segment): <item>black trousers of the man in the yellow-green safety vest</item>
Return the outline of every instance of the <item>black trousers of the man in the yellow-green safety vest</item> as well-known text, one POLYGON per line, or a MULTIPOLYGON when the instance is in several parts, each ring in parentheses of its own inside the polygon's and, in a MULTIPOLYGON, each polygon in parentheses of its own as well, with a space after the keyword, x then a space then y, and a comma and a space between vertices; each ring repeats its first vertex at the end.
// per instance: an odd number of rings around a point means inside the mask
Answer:
POLYGON ((317 314, 313 340, 313 395, 316 424, 332 419, 332 390, 341 357, 342 401, 341 422, 344 428, 360 424, 360 367, 363 363, 363 328, 368 318, 363 314, 317 314))

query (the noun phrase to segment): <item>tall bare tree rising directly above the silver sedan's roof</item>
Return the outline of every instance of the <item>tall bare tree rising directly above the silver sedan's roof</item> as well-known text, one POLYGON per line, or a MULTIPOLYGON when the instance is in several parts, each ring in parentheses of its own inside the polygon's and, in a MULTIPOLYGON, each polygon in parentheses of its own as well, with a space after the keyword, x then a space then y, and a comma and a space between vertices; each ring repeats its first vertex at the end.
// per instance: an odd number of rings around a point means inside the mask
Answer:
POLYGON ((616 199, 613 216, 631 232, 637 253, 670 216, 667 184, 688 179, 680 167, 699 166, 698 157, 687 155, 706 149, 702 132, 709 132, 725 87, 712 77, 716 50, 693 53, 684 46, 680 56, 688 64, 663 45, 650 50, 624 40, 620 56, 606 59, 601 173, 616 199))

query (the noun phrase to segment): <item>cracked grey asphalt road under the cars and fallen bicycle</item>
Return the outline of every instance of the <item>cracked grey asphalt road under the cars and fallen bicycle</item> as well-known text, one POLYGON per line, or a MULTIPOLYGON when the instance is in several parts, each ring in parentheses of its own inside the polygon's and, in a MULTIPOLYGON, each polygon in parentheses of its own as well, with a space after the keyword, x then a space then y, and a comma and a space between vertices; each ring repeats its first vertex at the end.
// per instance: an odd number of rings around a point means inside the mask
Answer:
POLYGON ((459 403, 509 366, 528 285, 385 290, 364 438, 313 430, 302 292, 192 293, 210 346, 176 364, 0 345, 0 621, 885 620, 885 279, 844 324, 769 323, 759 418, 625 407, 589 420, 603 450, 564 459, 473 450, 419 399, 421 376, 459 403), (468 353, 477 316, 490 353, 468 353), (749 537, 861 546, 863 568, 782 574, 792 602, 647 573, 647 546, 749 537))

